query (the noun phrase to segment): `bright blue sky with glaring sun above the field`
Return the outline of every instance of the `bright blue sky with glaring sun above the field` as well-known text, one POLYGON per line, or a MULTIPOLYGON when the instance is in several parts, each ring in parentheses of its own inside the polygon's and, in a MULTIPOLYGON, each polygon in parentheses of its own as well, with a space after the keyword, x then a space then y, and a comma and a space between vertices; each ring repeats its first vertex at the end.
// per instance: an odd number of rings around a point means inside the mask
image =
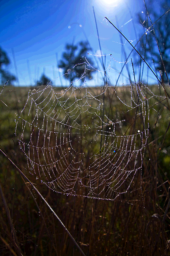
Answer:
MULTIPOLYGON (((93 6, 102 53, 107 54, 108 66, 111 59, 110 79, 114 83, 122 66, 119 62, 123 62, 121 44, 119 33, 104 17, 116 25, 116 16, 121 32, 135 45, 133 21, 136 22, 138 12, 145 11, 143 0, 1 0, 0 46, 11 60, 9 71, 16 75, 12 55, 14 49, 20 85, 34 84, 43 72, 51 80, 57 78, 56 53, 60 60, 66 43, 86 40, 84 32, 94 52, 98 53, 93 6)), ((139 36, 142 28, 137 24, 135 28, 139 36)), ((131 46, 125 44, 125 49, 128 53, 131 46)), ((96 82, 97 78, 91 81, 96 82)), ((121 79, 120 82, 125 81, 121 79)), ((60 85, 60 80, 56 79, 53 83, 60 85)), ((63 83, 66 85, 65 80, 63 83)))

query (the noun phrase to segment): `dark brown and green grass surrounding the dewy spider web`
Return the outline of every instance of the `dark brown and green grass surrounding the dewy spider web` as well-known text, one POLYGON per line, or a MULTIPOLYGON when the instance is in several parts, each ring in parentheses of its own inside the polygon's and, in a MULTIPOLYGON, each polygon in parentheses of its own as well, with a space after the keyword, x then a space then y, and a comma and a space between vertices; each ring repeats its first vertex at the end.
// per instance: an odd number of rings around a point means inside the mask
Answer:
MULTIPOLYGON (((25 170, 27 162, 14 136, 14 118, 15 113, 23 109, 28 89, 4 89, 3 102, 0 102, 1 147, 39 189, 84 253, 91 256, 170 255, 169 209, 164 215, 170 199, 168 101, 160 102, 162 98, 152 97, 142 176, 141 172, 137 174, 132 190, 109 201, 58 194, 25 170)), ((154 95, 164 95, 158 86, 149 89, 154 95)), ((117 91, 122 99, 130 98, 129 87, 117 88, 117 91)), ((134 113, 122 109, 116 99, 113 96, 111 101, 106 94, 105 100, 109 102, 106 111, 111 108, 110 115, 117 113, 121 120, 126 113, 126 127, 122 128, 125 132, 125 128, 134 123, 134 113)), ((45 202, 3 154, 0 154, 0 185, 0 255, 80 255, 45 202)))

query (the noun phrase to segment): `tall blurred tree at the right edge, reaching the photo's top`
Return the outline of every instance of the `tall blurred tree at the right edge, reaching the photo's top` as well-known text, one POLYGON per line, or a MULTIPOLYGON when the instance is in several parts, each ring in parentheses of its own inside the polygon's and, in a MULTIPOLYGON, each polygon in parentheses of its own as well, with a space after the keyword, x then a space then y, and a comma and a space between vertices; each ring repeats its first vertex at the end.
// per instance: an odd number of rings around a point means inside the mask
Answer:
MULTIPOLYGON (((138 15, 138 22, 143 26, 145 32, 145 36, 143 36, 139 43, 139 51, 150 65, 154 65, 156 73, 158 74, 161 72, 162 77, 167 81, 166 74, 170 73, 170 12, 167 12, 170 9, 170 1, 164 0, 164 2, 156 8, 156 11, 155 8, 153 8, 154 4, 155 3, 151 0, 148 4, 148 12, 152 20, 154 30, 147 14, 147 18, 146 16, 144 17, 145 14, 140 13, 138 15), (162 14, 164 15, 160 18, 162 14), (156 39, 154 33, 156 35, 156 39), (158 50, 156 40, 158 42, 160 52, 158 50), (166 74, 164 68, 166 70, 166 74)), ((137 62, 137 64, 139 64, 139 62, 137 62)))

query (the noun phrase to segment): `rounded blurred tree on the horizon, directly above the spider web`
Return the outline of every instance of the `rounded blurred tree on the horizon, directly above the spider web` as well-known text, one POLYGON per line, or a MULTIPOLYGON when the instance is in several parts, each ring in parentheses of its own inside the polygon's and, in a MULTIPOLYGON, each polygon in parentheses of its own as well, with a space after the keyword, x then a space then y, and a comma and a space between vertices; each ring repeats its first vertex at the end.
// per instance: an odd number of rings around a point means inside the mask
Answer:
POLYGON ((66 44, 66 51, 63 52, 63 58, 60 60, 58 67, 63 69, 63 74, 70 81, 81 78, 81 83, 85 77, 92 79, 91 67, 92 60, 87 58, 87 51, 90 50, 86 42, 79 42, 78 45, 66 44), (77 54, 76 54, 77 52, 77 54))

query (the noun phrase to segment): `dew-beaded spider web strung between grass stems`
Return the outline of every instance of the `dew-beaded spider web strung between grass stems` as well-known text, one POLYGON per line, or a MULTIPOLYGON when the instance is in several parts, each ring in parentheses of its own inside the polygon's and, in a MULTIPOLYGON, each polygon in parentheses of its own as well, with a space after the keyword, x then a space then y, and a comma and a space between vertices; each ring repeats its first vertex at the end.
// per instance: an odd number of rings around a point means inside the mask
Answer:
POLYGON ((105 77, 101 86, 88 85, 87 62, 67 88, 29 90, 16 118, 25 172, 55 192, 115 200, 141 176, 155 95, 142 83, 111 85, 109 58, 105 71, 96 70, 105 77))

